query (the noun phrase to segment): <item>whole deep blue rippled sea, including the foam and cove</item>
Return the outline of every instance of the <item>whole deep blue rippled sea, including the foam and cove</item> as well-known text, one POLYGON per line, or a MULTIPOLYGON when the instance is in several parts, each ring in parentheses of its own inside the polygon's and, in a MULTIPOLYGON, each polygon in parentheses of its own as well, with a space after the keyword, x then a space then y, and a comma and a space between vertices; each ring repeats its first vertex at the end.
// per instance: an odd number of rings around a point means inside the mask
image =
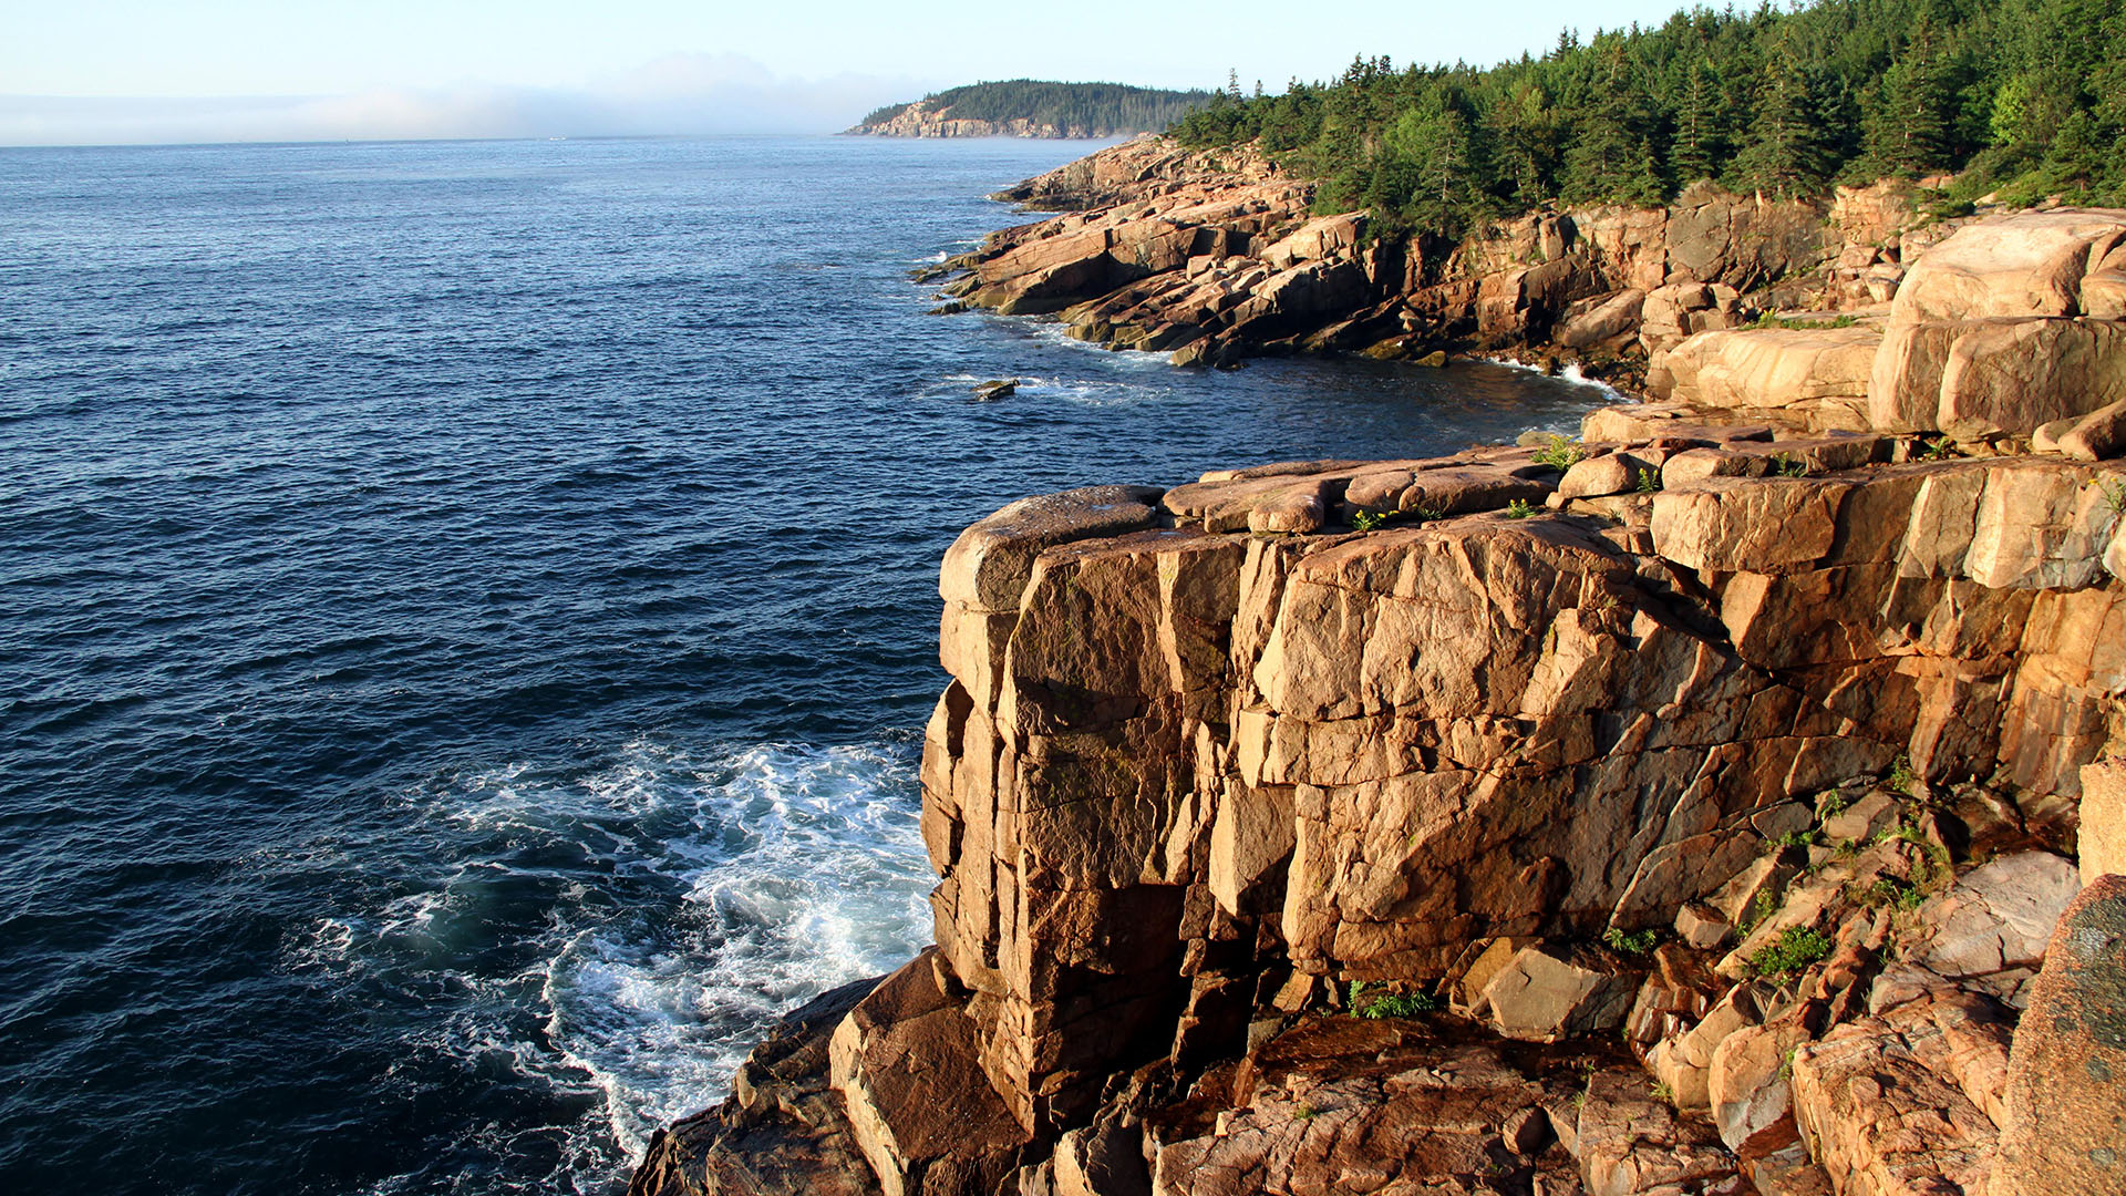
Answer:
POLYGON ((929 938, 961 526, 1605 398, 927 315, 1082 151, 0 151, 0 1190, 612 1192, 929 938))

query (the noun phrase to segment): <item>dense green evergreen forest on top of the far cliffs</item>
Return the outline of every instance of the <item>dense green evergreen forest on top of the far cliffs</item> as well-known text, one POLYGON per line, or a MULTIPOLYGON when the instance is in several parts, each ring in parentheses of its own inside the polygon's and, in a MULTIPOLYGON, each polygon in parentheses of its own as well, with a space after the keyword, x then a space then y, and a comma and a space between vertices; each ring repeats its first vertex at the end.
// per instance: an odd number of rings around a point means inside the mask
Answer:
POLYGON ((2028 204, 2126 202, 2126 0, 1816 0, 1575 32, 1488 70, 1356 60, 1282 96, 1229 87, 1171 128, 1254 140, 1320 179, 1318 206, 1458 236, 1550 200, 1658 204, 1962 172, 2028 204))

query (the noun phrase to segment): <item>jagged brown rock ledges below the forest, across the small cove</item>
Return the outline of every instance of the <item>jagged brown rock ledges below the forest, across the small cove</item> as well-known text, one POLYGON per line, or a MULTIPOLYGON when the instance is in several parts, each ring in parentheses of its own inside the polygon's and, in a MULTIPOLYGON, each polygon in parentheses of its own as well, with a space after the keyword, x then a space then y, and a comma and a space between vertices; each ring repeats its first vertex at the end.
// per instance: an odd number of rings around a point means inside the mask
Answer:
POLYGON ((1069 215, 997 232, 940 270, 959 304, 1057 313, 1074 336, 1176 364, 1482 349, 1633 379, 1686 336, 1758 313, 1879 323, 1909 262, 1971 223, 1930 219, 1920 192, 1886 181, 1828 202, 1701 185, 1665 209, 1533 213, 1461 243, 1376 236, 1367 213, 1312 211, 1312 183, 1248 151, 1165 138, 999 198, 1069 215))

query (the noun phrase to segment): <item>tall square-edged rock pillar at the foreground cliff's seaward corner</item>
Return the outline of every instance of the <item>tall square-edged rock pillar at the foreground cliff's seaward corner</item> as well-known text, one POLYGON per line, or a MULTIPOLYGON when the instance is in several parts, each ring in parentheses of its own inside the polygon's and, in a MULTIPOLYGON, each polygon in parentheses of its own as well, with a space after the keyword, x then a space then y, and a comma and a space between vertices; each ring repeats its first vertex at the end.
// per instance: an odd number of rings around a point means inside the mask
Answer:
POLYGON ((982 1068, 1033 1132, 1163 1049, 1186 996, 1182 883, 1208 836, 1199 775, 1222 751, 1246 547, 1150 528, 1157 494, 1006 506, 940 581, 955 685, 923 760, 938 945, 982 1068))

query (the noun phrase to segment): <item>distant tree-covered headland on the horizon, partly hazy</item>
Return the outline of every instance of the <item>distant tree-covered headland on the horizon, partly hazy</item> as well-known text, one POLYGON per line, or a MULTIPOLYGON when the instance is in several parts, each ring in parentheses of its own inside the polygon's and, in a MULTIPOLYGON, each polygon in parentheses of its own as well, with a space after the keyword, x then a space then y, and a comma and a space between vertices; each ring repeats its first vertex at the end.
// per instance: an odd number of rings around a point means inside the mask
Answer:
POLYGON ((1212 92, 1123 83, 1006 79, 887 104, 850 134, 872 136, 1127 136, 1157 132, 1210 104, 1212 92))

